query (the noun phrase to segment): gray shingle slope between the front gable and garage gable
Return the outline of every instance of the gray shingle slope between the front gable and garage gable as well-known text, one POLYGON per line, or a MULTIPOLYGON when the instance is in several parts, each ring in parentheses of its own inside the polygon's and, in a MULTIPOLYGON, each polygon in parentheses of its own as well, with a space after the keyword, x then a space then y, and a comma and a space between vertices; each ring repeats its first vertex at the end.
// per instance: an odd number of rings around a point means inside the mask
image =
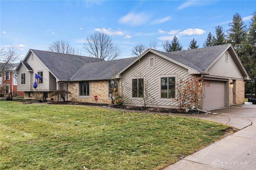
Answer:
MULTIPOLYGON (((170 52, 170 54, 180 55, 183 59, 186 59, 186 61, 189 61, 198 67, 199 70, 197 71, 204 72, 229 46, 230 44, 216 45, 212 47, 174 51, 170 52)), ((183 64, 190 67, 190 65, 187 63, 183 64)))

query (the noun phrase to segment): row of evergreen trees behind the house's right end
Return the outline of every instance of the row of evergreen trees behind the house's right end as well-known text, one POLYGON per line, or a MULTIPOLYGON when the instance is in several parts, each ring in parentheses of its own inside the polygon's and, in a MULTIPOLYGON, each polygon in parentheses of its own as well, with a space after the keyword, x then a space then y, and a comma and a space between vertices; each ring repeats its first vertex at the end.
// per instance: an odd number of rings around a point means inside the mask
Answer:
MULTIPOLYGON (((256 77, 256 11, 253 12, 251 22, 247 28, 242 20, 240 14, 236 13, 233 16, 232 22, 228 24, 230 29, 223 30, 222 26, 215 27, 215 35, 209 32, 203 47, 210 47, 214 45, 222 45, 231 43, 234 47, 238 57, 240 58, 248 75, 252 79, 252 87, 255 87, 254 77, 256 77)), ((166 52, 180 51, 183 49, 182 45, 174 36, 173 40, 164 40, 162 42, 166 52)), ((196 40, 192 40, 188 49, 198 48, 196 40)), ((245 92, 250 93, 251 81, 246 81, 245 92)), ((253 89, 255 93, 255 89, 253 89)))

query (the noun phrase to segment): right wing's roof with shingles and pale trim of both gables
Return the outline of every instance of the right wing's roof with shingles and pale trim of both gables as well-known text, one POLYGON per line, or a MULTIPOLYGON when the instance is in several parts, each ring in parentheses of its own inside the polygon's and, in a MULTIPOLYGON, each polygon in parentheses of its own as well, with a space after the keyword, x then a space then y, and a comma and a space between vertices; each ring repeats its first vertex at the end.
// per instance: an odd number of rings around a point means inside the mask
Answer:
POLYGON ((130 63, 126 68, 120 71, 121 74, 123 71, 128 69, 132 64, 138 61, 141 57, 145 56, 147 53, 152 52, 156 55, 164 57, 184 68, 189 70, 189 73, 205 73, 208 74, 208 69, 216 63, 216 61, 228 50, 230 50, 236 60, 236 67, 242 71, 244 79, 248 79, 248 74, 246 73, 241 61, 239 60, 234 48, 231 44, 216 45, 211 47, 189 49, 182 51, 173 51, 173 52, 163 52, 154 49, 146 50, 142 55, 140 55, 136 60, 130 63))

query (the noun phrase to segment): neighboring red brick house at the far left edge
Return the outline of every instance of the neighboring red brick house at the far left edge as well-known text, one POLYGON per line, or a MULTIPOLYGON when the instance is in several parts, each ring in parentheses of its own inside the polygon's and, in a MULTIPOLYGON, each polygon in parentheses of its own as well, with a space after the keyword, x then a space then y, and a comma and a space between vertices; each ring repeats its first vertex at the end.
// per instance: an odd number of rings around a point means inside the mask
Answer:
POLYGON ((6 69, 3 72, 2 77, 0 77, 0 93, 8 97, 9 93, 12 96, 23 96, 23 91, 17 90, 17 73, 14 73, 18 63, 7 63, 6 69))

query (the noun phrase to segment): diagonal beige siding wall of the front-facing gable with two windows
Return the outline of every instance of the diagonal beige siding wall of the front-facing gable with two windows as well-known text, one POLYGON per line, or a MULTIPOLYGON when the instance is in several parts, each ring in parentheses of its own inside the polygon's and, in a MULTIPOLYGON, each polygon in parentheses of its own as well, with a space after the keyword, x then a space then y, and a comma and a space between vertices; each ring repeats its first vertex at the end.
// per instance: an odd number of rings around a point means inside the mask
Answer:
POLYGON ((143 98, 132 97, 132 79, 144 78, 144 85, 148 84, 148 94, 150 94, 147 106, 154 107, 172 107, 178 103, 174 99, 161 99, 160 78, 161 77, 176 77, 178 79, 186 79, 188 69, 181 67, 171 61, 164 59, 153 53, 148 53, 143 56, 140 61, 137 61, 122 73, 122 92, 124 95, 124 103, 128 105, 144 105, 143 98), (155 67, 150 67, 150 58, 155 59, 155 67))

